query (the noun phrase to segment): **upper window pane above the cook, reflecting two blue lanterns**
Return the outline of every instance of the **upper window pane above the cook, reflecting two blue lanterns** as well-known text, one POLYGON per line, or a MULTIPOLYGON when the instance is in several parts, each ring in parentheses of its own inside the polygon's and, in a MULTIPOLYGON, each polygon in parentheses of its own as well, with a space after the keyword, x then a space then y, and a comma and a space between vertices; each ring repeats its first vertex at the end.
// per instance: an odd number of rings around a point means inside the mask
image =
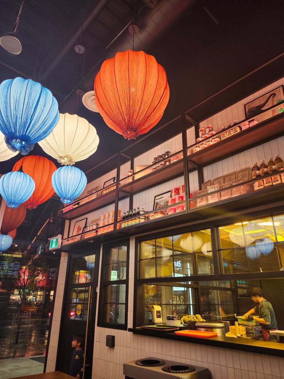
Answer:
MULTIPOLYGON (((282 218, 265 217, 218 228, 223 273, 279 271, 283 254, 282 218)), ((284 238, 283 238, 284 241, 284 238)))

